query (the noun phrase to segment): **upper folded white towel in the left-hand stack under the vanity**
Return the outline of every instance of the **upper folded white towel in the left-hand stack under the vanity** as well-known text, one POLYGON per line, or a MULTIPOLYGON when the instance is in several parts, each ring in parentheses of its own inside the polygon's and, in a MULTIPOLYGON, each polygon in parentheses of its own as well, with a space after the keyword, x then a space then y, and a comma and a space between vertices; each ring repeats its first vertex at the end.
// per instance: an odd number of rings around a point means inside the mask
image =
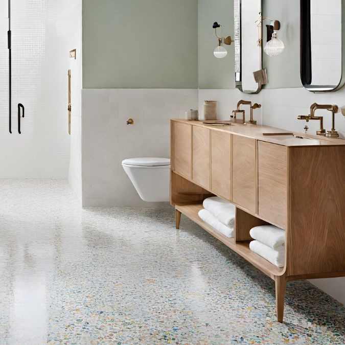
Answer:
POLYGON ((202 203, 203 208, 208 210, 221 223, 226 226, 234 226, 236 206, 218 196, 207 198, 202 203))

